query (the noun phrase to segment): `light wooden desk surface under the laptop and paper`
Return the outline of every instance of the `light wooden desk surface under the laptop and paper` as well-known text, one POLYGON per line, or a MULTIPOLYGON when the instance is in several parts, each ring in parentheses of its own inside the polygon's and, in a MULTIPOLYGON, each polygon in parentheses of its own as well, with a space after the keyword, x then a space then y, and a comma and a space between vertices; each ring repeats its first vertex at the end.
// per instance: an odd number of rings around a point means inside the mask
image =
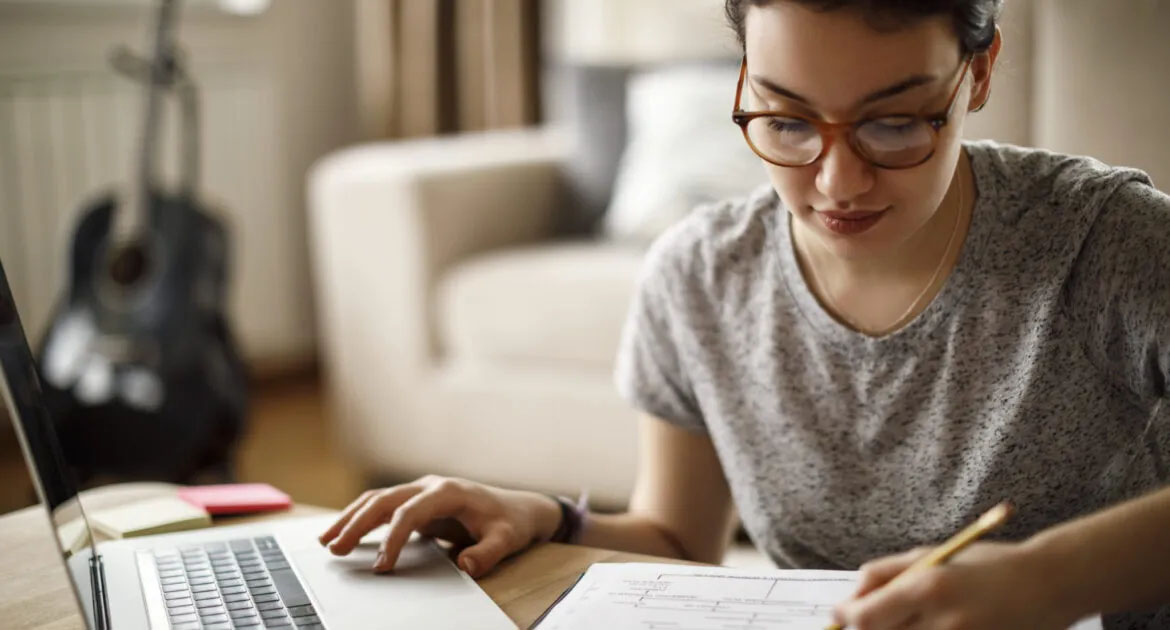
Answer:
MULTIPOLYGON (((166 484, 132 484, 85 493, 87 508, 173 493, 166 484)), ((218 526, 281 516, 330 512, 296 506, 291 512, 219 520, 218 526)), ((679 562, 571 545, 541 545, 504 561, 479 580, 480 587, 516 624, 524 629, 548 608, 578 574, 594 562, 679 562)), ((49 520, 41 506, 0 516, 0 619, 11 630, 83 630, 76 600, 69 589, 49 520)), ((344 629, 343 629, 344 630, 344 629)))

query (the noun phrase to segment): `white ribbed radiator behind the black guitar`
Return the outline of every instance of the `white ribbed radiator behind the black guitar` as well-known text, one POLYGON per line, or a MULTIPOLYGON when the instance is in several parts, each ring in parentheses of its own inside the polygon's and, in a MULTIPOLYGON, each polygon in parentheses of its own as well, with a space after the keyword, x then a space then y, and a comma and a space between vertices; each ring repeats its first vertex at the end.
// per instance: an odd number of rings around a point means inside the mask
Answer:
MULTIPOLYGON (((300 304, 297 247, 289 233, 287 160, 276 125, 281 108, 256 73, 194 68, 201 88, 202 186, 233 237, 229 314, 245 354, 287 345, 298 317, 274 308, 300 304), (275 324, 275 326, 274 326, 275 324), (284 328, 284 330, 282 330, 284 328), (285 335, 285 337, 281 337, 285 335)), ((0 259, 34 343, 67 281, 77 214, 97 193, 124 186, 140 133, 142 94, 112 71, 0 75, 0 259)), ((160 135, 161 171, 177 172, 178 110, 168 100, 160 135)))

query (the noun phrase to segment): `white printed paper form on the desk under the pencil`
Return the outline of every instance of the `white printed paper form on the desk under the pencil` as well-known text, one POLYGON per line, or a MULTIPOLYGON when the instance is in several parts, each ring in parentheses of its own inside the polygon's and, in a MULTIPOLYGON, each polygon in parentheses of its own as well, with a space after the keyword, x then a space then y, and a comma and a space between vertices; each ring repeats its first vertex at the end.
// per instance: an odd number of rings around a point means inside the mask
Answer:
MULTIPOLYGON (((855 571, 745 571, 683 564, 593 564, 539 630, 815 630, 853 594, 855 571)), ((1075 630, 1100 630, 1094 618, 1075 630)))

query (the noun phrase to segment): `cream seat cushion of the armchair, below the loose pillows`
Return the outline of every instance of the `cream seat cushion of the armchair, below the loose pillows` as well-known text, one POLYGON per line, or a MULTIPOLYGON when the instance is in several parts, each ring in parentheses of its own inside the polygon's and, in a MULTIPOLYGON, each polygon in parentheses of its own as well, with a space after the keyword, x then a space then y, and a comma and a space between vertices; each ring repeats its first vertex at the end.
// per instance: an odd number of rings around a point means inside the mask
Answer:
POLYGON ((442 350, 610 370, 641 259, 639 248, 572 241, 468 259, 438 287, 442 350))

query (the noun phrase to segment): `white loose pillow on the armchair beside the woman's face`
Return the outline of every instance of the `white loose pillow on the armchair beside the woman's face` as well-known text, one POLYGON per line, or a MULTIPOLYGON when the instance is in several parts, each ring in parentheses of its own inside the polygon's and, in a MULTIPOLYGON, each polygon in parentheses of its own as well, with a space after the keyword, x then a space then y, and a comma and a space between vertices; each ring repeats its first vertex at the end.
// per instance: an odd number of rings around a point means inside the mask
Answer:
POLYGON ((605 233, 648 242, 695 206, 739 197, 768 180, 731 122, 738 64, 644 70, 626 95, 627 144, 605 233))

